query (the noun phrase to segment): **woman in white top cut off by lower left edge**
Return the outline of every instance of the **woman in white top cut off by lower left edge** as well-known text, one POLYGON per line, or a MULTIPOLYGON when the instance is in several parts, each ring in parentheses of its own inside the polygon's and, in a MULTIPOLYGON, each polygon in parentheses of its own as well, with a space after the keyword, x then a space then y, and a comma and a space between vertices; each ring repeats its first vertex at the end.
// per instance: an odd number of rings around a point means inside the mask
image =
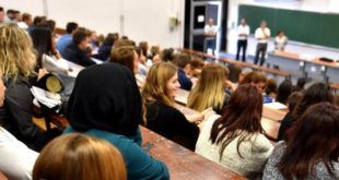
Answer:
MULTIPOLYGON (((3 105, 5 87, 0 69, 0 107, 3 105)), ((38 154, 17 141, 0 127, 0 171, 10 180, 32 179, 32 170, 38 154)))

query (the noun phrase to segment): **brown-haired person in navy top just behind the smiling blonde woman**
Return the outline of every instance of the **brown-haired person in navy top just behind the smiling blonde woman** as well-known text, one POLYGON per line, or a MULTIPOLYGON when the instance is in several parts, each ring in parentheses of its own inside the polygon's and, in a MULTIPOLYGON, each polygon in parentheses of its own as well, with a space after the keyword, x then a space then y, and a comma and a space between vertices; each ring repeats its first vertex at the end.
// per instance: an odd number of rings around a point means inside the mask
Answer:
POLYGON ((174 64, 178 67, 178 81, 180 88, 190 91, 192 87, 192 81, 187 77, 187 74, 190 71, 190 57, 188 55, 176 55, 174 59, 174 64))

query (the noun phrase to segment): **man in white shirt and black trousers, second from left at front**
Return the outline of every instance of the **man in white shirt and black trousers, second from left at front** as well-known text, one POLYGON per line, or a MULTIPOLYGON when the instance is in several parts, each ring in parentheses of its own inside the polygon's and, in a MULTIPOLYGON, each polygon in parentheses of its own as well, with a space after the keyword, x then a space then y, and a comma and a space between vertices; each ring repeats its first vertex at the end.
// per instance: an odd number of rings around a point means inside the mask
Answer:
POLYGON ((237 49, 236 49, 236 60, 239 59, 239 52, 243 48, 243 62, 246 61, 246 48, 247 48, 247 36, 249 35, 249 26, 245 19, 242 19, 242 24, 237 27, 237 49))

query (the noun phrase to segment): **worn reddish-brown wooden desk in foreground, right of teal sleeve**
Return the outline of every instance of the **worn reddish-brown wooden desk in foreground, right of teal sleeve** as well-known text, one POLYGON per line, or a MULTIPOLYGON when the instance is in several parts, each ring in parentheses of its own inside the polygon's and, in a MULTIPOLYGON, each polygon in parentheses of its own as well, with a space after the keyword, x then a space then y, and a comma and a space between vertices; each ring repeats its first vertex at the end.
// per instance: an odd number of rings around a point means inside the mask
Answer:
POLYGON ((151 130, 143 127, 140 127, 140 130, 142 133, 142 148, 155 159, 162 160, 166 164, 171 179, 246 179, 176 143, 173 143, 151 130))

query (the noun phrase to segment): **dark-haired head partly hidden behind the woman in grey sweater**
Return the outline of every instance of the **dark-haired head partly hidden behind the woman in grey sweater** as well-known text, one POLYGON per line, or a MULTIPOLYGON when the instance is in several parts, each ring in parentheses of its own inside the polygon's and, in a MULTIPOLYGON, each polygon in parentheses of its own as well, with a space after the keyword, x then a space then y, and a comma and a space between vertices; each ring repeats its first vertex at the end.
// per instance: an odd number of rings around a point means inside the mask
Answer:
POLYGON ((334 103, 334 95, 328 85, 324 83, 314 83, 305 92, 302 99, 296 104, 292 112, 293 121, 297 121, 306 109, 315 104, 328 101, 334 103))

